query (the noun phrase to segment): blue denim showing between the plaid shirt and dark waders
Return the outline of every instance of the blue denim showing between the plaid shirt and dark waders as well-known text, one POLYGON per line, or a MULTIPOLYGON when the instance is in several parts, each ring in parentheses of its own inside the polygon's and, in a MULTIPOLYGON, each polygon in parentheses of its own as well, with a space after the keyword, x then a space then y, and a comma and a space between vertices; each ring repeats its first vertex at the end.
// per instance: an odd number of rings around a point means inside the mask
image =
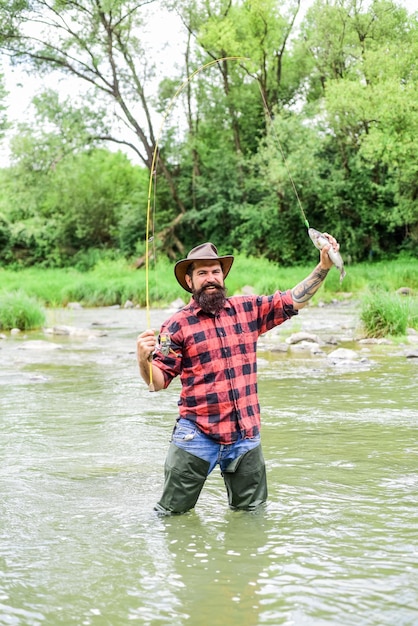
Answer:
POLYGON ((193 422, 180 418, 174 427, 172 441, 179 448, 208 461, 210 474, 217 464, 223 471, 231 461, 259 446, 260 435, 251 439, 243 439, 239 435, 234 443, 221 444, 205 435, 193 422))

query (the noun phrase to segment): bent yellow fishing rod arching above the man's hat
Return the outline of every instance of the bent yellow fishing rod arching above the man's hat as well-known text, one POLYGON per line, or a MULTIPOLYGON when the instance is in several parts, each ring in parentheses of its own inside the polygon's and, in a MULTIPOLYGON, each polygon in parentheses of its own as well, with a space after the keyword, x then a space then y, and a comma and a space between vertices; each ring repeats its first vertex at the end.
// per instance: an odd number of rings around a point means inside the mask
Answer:
MULTIPOLYGON (((147 327, 151 328, 151 306, 150 306, 150 294, 149 294, 149 257, 150 257, 150 243, 154 241, 155 237, 154 237, 154 221, 151 219, 151 198, 153 195, 153 178, 157 176, 157 155, 159 152, 159 141, 160 141, 160 137, 161 137, 161 132, 163 130, 163 126, 171 112, 171 109, 173 108, 173 105, 177 99, 177 97, 181 94, 181 92, 183 91, 183 89, 189 84, 189 82, 196 76, 196 74, 199 74, 199 72, 202 72, 203 70, 207 69, 208 67, 211 67, 212 65, 215 65, 216 63, 220 63, 222 61, 248 61, 247 57, 222 57, 220 59, 215 59, 213 61, 209 61, 209 63, 205 63, 205 65, 202 65, 201 67, 199 67, 197 70, 195 70, 194 72, 192 72, 192 74, 190 74, 190 76, 188 76, 186 78, 186 80, 180 85, 180 87, 177 89, 176 93, 174 94, 174 96, 171 98, 170 102, 168 103, 168 106, 164 112, 163 115, 163 119, 160 125, 160 129, 158 131, 158 135, 157 135, 157 139, 155 142, 155 148, 154 148, 154 152, 152 155, 152 162, 151 162, 151 168, 150 168, 150 177, 149 177, 149 183, 148 183, 148 202, 147 202, 147 219, 146 219, 146 230, 145 230, 145 309, 146 309, 146 319, 147 319, 147 327), (151 226, 152 226, 152 236, 151 236, 151 226)), ((154 186, 155 187, 155 186, 154 186)), ((154 197, 154 215, 155 215, 155 197, 154 197)), ((154 242, 155 245, 155 242, 154 242)), ((155 250, 155 248, 154 248, 155 250)), ((154 252, 154 258, 155 258, 155 252, 154 252)), ((153 385, 153 380, 152 380, 152 363, 150 362, 150 384, 149 384, 149 388, 150 390, 153 390, 154 385, 153 385)))

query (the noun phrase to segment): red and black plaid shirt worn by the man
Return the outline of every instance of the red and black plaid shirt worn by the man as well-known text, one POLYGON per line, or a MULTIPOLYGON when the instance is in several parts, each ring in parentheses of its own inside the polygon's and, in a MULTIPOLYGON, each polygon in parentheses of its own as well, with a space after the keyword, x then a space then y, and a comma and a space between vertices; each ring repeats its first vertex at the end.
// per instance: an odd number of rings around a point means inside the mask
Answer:
POLYGON ((218 315, 204 313, 194 299, 161 327, 171 351, 154 354, 168 387, 180 376, 179 417, 195 422, 215 441, 230 444, 260 432, 257 395, 258 337, 297 311, 291 292, 227 298, 218 315))

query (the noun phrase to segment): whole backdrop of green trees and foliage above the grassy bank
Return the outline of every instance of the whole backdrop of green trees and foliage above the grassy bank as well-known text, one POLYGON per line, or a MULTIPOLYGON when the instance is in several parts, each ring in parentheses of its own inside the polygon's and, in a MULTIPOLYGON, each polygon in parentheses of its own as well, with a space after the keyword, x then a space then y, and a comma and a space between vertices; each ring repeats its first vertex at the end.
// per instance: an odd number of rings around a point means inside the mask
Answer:
POLYGON ((188 33, 184 67, 149 97, 146 4, 5 3, 0 50, 40 77, 76 76, 80 89, 40 93, 34 123, 13 139, 0 260, 143 257, 149 202, 154 245, 171 261, 210 240, 306 265, 316 258, 306 219, 337 237, 347 263, 417 257, 417 16, 391 0, 315 0, 298 25, 299 7, 173 3, 188 33))

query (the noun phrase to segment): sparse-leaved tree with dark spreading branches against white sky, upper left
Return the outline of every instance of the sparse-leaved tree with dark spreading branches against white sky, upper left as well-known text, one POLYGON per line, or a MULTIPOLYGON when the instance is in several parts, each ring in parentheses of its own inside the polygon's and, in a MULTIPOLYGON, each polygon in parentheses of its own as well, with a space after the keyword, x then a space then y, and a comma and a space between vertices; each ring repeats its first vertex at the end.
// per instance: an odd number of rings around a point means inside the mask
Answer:
MULTIPOLYGON (((141 43, 144 5, 134 0, 96 2, 46 0, 3 2, 0 46, 12 63, 39 76, 56 71, 84 85, 73 101, 90 114, 89 141, 110 141, 130 148, 151 169, 157 147, 151 81, 155 63, 141 43)), ((44 102, 46 105, 46 102, 44 102)), ((44 106, 44 115, 63 122, 60 107, 44 106)), ((85 127, 87 129, 87 126, 85 127)), ((184 213, 170 164, 163 151, 156 163, 173 205, 184 213)))

